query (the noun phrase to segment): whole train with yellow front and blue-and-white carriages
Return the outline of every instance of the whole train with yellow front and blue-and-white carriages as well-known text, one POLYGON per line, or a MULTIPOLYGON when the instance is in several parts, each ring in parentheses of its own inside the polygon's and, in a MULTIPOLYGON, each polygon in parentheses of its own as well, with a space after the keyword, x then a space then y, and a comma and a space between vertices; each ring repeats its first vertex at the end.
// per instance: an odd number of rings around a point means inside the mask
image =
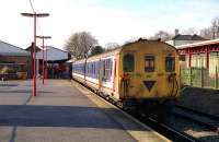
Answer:
POLYGON ((169 44, 140 38, 72 62, 72 79, 122 108, 154 113, 180 96, 178 54, 169 44))

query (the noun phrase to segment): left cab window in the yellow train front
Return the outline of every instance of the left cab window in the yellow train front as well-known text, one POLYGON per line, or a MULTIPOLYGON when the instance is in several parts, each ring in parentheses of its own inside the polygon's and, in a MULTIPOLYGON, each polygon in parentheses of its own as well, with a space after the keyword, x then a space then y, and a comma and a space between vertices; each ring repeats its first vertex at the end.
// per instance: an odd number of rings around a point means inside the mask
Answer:
POLYGON ((123 58, 124 72, 132 72, 135 69, 135 57, 131 54, 126 54, 123 58))

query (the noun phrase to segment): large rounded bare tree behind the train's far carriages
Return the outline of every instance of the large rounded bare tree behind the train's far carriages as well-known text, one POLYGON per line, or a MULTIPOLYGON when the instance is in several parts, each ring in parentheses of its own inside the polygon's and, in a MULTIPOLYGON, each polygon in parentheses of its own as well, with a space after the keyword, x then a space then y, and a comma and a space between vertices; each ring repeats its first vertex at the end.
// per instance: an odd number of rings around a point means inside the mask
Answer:
POLYGON ((97 40, 88 32, 72 34, 65 45, 77 59, 87 58, 89 52, 97 45, 97 40))

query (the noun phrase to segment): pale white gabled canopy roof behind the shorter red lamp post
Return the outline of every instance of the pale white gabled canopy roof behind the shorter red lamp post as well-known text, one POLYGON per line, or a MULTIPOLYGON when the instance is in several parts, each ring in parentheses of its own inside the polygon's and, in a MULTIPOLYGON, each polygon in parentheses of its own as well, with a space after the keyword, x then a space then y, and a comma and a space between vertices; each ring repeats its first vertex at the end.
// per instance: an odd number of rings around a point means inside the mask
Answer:
MULTIPOLYGON (((53 46, 45 46, 44 50, 44 59, 47 61, 67 61, 69 59, 69 52, 61 50, 59 48, 55 48, 53 46)), ((43 50, 36 54, 36 58, 42 60, 43 59, 43 50)))

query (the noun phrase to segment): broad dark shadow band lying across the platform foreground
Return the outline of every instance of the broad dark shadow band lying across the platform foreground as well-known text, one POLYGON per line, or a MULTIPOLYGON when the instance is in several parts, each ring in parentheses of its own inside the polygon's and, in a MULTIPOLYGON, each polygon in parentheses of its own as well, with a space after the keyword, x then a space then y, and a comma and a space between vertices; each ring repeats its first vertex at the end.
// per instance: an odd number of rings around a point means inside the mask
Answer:
MULTIPOLYGON (((79 106, 0 105, 0 126, 124 129, 111 115, 118 115, 118 110, 79 106)), ((134 123, 128 125, 126 130, 142 129, 134 123)))

